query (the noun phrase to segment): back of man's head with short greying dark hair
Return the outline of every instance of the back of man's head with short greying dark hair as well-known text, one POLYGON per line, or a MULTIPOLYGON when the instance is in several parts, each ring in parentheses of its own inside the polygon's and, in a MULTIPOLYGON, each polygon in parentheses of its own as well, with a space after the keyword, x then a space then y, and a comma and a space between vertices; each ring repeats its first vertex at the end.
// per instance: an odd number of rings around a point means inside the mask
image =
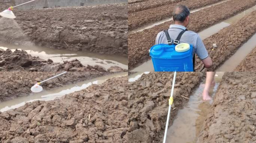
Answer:
POLYGON ((184 5, 178 5, 173 11, 173 20, 184 22, 186 17, 190 15, 188 7, 184 5))

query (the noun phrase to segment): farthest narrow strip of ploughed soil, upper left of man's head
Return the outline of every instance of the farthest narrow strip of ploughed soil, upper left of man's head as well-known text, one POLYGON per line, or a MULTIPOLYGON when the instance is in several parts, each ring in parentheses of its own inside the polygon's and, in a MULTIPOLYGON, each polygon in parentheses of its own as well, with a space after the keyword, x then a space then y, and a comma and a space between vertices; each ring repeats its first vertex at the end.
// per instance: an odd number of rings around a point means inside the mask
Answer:
POLYGON ((183 1, 183 0, 161 0, 161 1, 147 0, 147 1, 142 1, 140 3, 128 4, 128 13, 131 14, 133 12, 138 12, 138 11, 146 10, 146 9, 152 9, 152 8, 159 7, 162 5, 177 3, 179 1, 183 1))

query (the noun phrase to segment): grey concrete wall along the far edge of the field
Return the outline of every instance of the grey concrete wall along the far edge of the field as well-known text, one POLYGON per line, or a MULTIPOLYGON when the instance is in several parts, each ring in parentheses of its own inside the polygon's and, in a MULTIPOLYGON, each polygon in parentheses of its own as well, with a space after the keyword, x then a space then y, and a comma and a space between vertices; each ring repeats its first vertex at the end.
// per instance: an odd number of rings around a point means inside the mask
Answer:
MULTIPOLYGON (((0 0, 1 1, 1 0, 0 0)), ((15 0, 15 5, 30 0, 15 0)), ((42 9, 65 6, 94 6, 98 4, 127 3, 127 0, 36 0, 19 7, 19 9, 42 9)))

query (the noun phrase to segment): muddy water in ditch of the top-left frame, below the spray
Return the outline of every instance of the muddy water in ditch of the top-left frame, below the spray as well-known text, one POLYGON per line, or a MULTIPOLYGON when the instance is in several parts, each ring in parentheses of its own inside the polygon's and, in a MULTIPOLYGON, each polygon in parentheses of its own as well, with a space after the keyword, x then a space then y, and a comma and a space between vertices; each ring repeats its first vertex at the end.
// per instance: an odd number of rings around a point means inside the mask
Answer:
POLYGON ((51 59, 54 63, 63 63, 63 61, 71 61, 74 59, 79 60, 84 66, 88 64, 91 66, 99 65, 106 69, 111 66, 118 66, 122 69, 128 69, 128 60, 125 56, 111 55, 111 54, 99 54, 88 51, 70 51, 65 49, 55 49, 40 46, 24 46, 14 44, 0 43, 0 48, 6 50, 9 48, 12 51, 15 49, 25 50, 32 56, 38 56, 44 60, 51 59))

